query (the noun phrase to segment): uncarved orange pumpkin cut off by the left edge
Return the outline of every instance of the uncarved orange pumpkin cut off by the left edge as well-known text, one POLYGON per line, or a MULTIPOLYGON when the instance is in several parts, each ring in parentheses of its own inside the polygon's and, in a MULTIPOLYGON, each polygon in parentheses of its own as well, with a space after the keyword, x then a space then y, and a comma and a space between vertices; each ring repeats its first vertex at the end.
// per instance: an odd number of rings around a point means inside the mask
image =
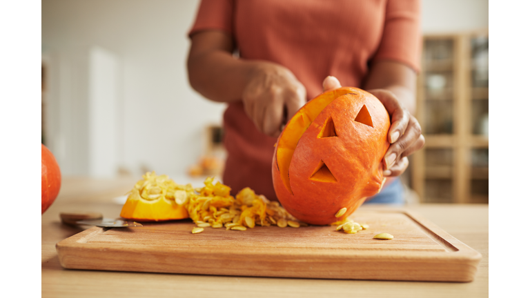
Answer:
POLYGON ((61 189, 61 170, 52 152, 41 144, 41 215, 52 205, 61 189))

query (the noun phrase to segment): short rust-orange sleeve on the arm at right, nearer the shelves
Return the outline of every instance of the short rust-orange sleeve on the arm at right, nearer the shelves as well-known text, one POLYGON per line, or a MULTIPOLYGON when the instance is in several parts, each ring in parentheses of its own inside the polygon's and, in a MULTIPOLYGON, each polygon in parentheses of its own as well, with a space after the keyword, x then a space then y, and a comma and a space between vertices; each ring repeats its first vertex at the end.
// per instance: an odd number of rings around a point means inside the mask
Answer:
POLYGON ((372 61, 394 60, 420 71, 420 0, 389 0, 382 39, 372 61))

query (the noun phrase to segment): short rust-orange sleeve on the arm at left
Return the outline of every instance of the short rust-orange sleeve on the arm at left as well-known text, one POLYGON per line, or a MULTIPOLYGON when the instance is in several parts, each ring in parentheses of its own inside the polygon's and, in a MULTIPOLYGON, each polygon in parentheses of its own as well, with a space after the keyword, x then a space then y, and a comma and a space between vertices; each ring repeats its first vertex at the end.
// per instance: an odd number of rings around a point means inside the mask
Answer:
POLYGON ((209 29, 223 30, 232 34, 233 5, 233 0, 202 0, 188 37, 209 29))

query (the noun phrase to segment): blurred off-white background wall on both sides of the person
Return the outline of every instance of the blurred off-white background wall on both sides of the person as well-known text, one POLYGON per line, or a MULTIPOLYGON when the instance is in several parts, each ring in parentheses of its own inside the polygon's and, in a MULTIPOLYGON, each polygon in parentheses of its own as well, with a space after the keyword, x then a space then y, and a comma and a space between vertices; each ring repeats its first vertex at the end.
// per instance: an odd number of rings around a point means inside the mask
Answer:
MULTIPOLYGON (((66 176, 184 176, 224 104, 192 90, 197 0, 43 0, 43 143, 66 176)), ((488 27, 487 0, 424 0, 422 31, 488 27)))

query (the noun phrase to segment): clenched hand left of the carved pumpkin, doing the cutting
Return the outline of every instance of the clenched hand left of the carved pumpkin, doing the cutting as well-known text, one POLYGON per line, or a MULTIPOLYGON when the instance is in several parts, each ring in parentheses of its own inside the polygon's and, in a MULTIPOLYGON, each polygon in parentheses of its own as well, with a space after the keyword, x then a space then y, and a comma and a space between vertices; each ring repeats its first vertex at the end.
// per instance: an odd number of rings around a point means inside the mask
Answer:
POLYGON ((245 112, 259 131, 278 137, 282 126, 306 103, 306 88, 283 66, 253 64, 242 95, 245 112))

